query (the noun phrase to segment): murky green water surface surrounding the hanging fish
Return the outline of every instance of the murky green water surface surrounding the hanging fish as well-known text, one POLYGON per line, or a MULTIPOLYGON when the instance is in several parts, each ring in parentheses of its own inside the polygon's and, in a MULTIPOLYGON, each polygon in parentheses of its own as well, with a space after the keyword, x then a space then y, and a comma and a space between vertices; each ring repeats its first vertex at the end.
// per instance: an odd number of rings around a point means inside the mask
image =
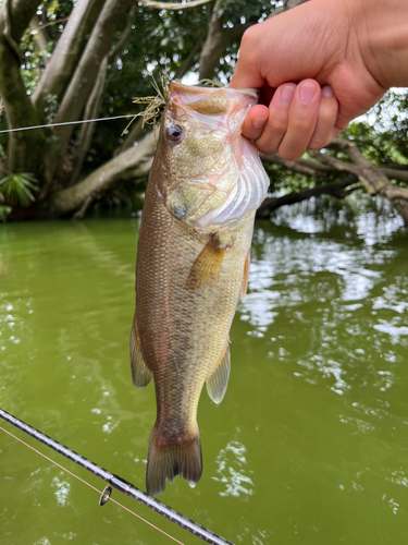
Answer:
MULTIPOLYGON (((256 223, 228 389, 200 400, 202 479, 160 499, 236 544, 406 543, 408 235, 381 214, 292 210, 256 223)), ((0 407, 144 488, 154 393, 132 386, 127 354, 137 232, 137 218, 0 226, 0 407)), ((171 542, 0 432, 0 543, 171 542)))

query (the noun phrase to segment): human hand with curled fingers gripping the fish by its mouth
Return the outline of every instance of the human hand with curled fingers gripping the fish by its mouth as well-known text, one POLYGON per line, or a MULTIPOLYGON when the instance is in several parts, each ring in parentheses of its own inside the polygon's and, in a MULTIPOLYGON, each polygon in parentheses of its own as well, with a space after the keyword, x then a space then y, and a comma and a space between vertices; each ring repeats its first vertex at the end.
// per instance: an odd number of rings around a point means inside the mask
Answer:
POLYGON ((388 88, 392 77, 375 73, 367 14, 356 4, 364 2, 312 0, 244 34, 230 86, 262 92, 263 105, 243 125, 260 152, 294 160, 323 147, 388 88))

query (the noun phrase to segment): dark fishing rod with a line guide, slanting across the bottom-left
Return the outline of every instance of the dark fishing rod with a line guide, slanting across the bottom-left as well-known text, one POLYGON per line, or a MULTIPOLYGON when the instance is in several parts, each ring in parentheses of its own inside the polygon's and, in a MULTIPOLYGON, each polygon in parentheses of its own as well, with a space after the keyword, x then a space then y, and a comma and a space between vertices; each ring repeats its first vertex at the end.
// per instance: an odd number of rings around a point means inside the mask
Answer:
POLYGON ((132 483, 125 481, 124 479, 114 475, 113 473, 104 470, 100 465, 91 462, 87 458, 84 458, 83 456, 78 455, 77 452, 74 452, 74 450, 71 450, 70 448, 65 447, 61 443, 55 441, 48 435, 42 434, 35 427, 32 427, 30 425, 26 424, 22 420, 18 420, 17 417, 13 416, 12 414, 3 411, 0 409, 0 417, 5 420, 9 424, 12 424, 13 426, 17 427, 22 432, 28 434, 29 436, 34 437, 37 439, 39 443, 42 443, 44 445, 47 445, 47 447, 52 448, 60 455, 64 456, 69 460, 73 461, 77 465, 81 465, 85 470, 89 471, 94 475, 98 476, 106 483, 108 483, 109 486, 103 491, 100 499, 99 499, 99 505, 103 506, 112 492, 112 487, 115 488, 119 492, 122 492, 126 496, 129 496, 131 498, 136 499, 139 504, 148 507, 149 509, 156 511, 157 513, 161 514, 165 519, 170 520, 171 522, 174 522, 178 526, 183 528, 187 532, 189 532, 193 535, 196 535, 200 540, 210 543, 211 545, 233 545, 233 543, 228 542, 227 540, 224 540, 224 537, 221 537, 221 535, 215 534, 211 530, 208 530, 205 526, 201 526, 201 524, 198 524, 198 522, 195 522, 191 519, 188 519, 184 514, 180 513, 175 509, 172 509, 171 507, 166 506, 165 504, 162 504, 158 499, 153 498, 152 496, 149 496, 145 492, 140 491, 137 488, 135 485, 132 483))

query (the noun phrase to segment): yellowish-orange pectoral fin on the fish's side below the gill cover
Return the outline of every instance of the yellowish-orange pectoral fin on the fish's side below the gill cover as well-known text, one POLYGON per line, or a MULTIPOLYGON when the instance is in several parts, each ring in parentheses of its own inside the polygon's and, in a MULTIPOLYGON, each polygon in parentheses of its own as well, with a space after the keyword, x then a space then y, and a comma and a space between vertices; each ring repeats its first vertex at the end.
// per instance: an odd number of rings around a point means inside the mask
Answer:
POLYGON ((212 237, 197 257, 187 278, 187 288, 203 288, 217 280, 221 274, 226 247, 220 247, 217 237, 212 237))

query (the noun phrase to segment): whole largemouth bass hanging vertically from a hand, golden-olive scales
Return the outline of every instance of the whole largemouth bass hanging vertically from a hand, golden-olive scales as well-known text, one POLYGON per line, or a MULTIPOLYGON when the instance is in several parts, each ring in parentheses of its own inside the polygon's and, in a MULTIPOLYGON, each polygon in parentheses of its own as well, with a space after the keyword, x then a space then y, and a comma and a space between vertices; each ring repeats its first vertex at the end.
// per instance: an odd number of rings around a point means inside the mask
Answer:
POLYGON ((255 213, 269 178, 240 134, 252 89, 172 82, 137 246, 132 375, 153 376, 157 420, 147 493, 201 476, 197 405, 205 383, 220 403, 230 376, 230 328, 244 299, 255 213))

